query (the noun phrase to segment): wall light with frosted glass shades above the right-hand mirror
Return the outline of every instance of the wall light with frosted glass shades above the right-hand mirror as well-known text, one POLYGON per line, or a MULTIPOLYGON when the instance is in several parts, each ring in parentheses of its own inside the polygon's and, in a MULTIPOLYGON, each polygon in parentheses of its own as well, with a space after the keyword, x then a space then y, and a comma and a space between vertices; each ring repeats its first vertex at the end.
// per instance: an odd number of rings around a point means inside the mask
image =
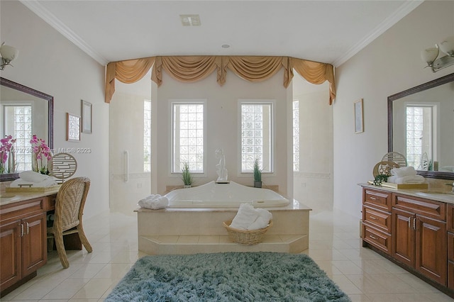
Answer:
POLYGON ((454 36, 445 38, 440 43, 440 47, 436 44, 435 47, 427 48, 421 51, 421 59, 427 63, 426 67, 431 67, 432 72, 438 72, 438 70, 448 67, 454 64, 454 36), (438 53, 444 52, 446 55, 438 57, 438 53))

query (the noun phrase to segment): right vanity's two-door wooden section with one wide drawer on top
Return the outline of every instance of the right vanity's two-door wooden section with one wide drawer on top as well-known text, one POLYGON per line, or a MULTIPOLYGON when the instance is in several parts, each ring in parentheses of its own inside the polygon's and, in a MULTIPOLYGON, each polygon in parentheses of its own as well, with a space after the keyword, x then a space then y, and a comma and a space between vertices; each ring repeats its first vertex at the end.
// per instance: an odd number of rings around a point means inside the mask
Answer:
POLYGON ((446 204, 393 194, 392 257, 446 286, 446 204))

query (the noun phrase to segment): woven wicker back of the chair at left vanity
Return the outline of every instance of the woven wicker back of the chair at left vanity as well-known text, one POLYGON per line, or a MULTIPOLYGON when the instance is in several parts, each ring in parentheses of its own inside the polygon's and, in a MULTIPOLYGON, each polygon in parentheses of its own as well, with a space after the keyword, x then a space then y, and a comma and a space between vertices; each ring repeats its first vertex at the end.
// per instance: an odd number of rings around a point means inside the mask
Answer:
POLYGON ((55 200, 54 231, 65 232, 79 225, 89 189, 88 177, 75 177, 62 184, 55 200))

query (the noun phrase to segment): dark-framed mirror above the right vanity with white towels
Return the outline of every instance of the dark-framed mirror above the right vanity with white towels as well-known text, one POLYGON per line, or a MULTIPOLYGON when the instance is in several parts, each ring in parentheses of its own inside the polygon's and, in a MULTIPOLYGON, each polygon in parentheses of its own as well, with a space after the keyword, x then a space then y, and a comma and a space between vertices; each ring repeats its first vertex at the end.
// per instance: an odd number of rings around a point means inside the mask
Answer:
POLYGON ((388 152, 419 175, 454 179, 454 73, 388 96, 388 152))

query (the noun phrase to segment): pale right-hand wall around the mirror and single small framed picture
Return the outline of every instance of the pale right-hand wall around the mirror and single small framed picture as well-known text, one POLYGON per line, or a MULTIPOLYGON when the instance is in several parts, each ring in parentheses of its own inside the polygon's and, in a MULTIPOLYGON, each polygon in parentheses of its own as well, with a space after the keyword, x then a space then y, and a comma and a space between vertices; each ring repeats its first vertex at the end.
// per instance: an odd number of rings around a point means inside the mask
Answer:
POLYGON ((360 217, 358 183, 387 152, 387 96, 454 72, 432 73, 420 51, 454 35, 454 1, 425 1, 336 69, 333 105, 334 208, 360 217), (364 99, 364 133, 355 134, 353 102, 364 99))

